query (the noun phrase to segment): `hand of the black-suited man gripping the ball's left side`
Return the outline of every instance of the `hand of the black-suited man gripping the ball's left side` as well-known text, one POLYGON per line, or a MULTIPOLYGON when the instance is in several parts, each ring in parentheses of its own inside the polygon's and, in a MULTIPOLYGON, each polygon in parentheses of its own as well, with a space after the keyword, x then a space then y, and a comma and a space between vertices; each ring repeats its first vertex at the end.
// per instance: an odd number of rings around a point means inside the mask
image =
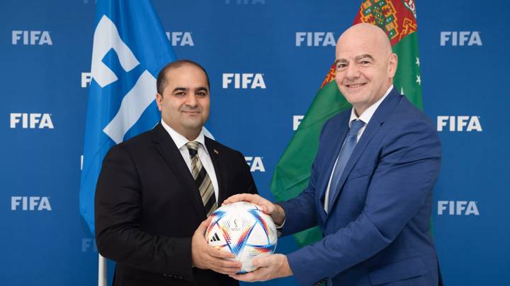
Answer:
POLYGON ((239 261, 229 261, 234 254, 215 249, 205 240, 204 233, 210 224, 211 217, 204 220, 191 238, 191 261, 193 266, 200 269, 212 269, 217 273, 234 274, 241 270, 239 261))

